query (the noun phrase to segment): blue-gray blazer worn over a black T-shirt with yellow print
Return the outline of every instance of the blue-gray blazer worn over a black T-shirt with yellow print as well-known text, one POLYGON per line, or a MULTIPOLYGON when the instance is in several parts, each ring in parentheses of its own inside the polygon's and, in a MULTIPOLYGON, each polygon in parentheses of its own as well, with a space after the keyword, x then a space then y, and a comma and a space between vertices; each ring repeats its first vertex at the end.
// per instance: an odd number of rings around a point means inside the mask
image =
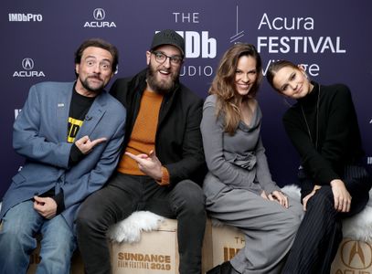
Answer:
POLYGON ((12 206, 55 187, 64 193, 61 213, 70 227, 80 203, 106 183, 119 160, 126 111, 102 91, 94 100, 75 140, 106 137, 79 163, 69 166, 72 143, 67 142, 69 104, 73 82, 43 82, 31 87, 14 124, 13 146, 26 163, 5 193, 2 218, 12 206))

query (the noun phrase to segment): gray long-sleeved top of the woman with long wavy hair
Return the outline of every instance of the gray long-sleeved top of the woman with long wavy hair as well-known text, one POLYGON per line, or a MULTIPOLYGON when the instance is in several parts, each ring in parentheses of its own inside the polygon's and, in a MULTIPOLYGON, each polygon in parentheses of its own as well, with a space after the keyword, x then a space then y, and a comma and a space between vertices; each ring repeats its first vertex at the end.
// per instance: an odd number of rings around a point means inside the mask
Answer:
POLYGON ((265 149, 260 139, 260 106, 257 104, 252 113, 250 125, 240 121, 234 135, 230 135, 224 130, 222 117, 216 118, 216 103, 216 95, 207 97, 200 124, 209 170, 204 181, 207 197, 218 193, 224 184, 258 195, 262 190, 267 194, 280 190, 271 179, 265 149), (217 184, 218 181, 223 184, 217 184))

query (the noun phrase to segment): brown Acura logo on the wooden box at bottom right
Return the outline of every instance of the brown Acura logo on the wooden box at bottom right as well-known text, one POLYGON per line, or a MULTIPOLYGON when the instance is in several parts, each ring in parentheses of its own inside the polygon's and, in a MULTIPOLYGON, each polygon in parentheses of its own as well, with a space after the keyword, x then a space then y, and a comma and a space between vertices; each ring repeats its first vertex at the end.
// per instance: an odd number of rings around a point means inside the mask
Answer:
POLYGON ((372 265, 372 247, 362 241, 345 241, 341 246, 341 259, 350 269, 367 269, 372 265))

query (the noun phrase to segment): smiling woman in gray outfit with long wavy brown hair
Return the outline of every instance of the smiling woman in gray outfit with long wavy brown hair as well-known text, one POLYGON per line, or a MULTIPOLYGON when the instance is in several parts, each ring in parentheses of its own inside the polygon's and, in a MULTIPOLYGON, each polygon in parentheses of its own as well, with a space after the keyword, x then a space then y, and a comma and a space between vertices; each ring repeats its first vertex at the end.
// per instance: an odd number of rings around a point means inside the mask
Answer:
POLYGON ((255 100, 261 78, 256 48, 235 44, 222 57, 204 103, 207 211, 238 227, 246 240, 234 258, 208 274, 279 273, 303 215, 301 205, 290 203, 271 180, 255 100))

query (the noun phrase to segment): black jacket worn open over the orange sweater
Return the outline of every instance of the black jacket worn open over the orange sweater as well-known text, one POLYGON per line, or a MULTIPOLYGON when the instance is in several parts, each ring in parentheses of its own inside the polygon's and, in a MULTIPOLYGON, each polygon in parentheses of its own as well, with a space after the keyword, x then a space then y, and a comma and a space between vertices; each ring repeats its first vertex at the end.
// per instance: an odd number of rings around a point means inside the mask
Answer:
MULTIPOLYGON (((122 152, 130 140, 145 88, 146 69, 112 84, 110 93, 127 110, 122 152)), ((179 82, 165 94, 155 134, 155 153, 168 170, 171 185, 186 179, 200 185, 203 182, 207 166, 200 132, 202 111, 203 100, 179 82)))

